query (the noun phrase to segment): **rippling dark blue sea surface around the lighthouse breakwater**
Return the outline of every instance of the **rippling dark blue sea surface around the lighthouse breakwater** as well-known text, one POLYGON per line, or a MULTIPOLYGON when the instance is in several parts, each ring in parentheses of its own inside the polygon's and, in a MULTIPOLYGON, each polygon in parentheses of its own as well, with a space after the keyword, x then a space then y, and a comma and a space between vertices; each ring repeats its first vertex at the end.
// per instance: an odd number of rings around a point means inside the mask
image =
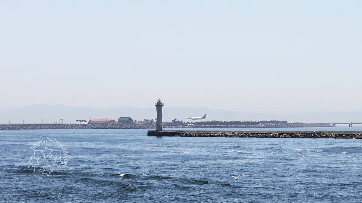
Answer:
POLYGON ((357 145, 362 139, 147 137, 147 129, 1 130, 0 201, 361 202, 362 147, 357 145), (42 139, 47 142, 31 149, 42 139), (64 158, 66 167, 59 164, 64 158), (125 173, 130 175, 119 176, 125 173), (247 175, 228 177, 239 174, 247 175))

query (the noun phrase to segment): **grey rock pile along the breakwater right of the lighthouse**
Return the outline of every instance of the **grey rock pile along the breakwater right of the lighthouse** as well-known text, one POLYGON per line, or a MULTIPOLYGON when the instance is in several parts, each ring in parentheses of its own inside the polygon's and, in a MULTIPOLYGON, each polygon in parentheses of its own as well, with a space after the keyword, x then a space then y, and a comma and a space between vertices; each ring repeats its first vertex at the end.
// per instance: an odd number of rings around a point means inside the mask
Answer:
POLYGON ((183 133, 169 135, 172 137, 227 137, 227 138, 350 138, 361 139, 362 134, 351 133, 238 133, 238 132, 214 132, 214 133, 183 133))

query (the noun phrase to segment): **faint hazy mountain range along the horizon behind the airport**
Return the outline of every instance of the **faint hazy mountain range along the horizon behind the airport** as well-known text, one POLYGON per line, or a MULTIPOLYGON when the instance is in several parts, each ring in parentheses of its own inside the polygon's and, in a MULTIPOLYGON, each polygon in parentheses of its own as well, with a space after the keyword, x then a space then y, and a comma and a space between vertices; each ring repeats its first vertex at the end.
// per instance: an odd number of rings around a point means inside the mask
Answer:
MULTIPOLYGON (((203 116, 206 120, 219 121, 261 121, 261 120, 287 120, 288 122, 358 122, 362 121, 362 111, 355 112, 329 112, 329 113, 305 113, 298 115, 277 115, 269 113, 245 113, 222 109, 210 109, 200 107, 164 107, 163 121, 177 120, 187 121, 188 116, 203 116)), ((90 118, 114 118, 131 117, 134 120, 155 119, 156 107, 115 107, 115 108, 91 108, 70 107, 66 105, 30 105, 22 108, 4 111, 0 109, 0 124, 25 123, 54 123, 63 119, 64 123, 73 123, 75 120, 89 120, 90 118)))

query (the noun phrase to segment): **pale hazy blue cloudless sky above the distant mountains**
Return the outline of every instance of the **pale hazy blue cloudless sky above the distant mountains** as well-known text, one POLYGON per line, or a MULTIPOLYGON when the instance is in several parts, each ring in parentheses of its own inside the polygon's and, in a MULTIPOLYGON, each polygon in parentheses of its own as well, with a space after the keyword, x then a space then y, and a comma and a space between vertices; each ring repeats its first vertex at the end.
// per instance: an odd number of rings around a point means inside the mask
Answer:
POLYGON ((0 1, 0 106, 362 109, 362 1, 0 1))

